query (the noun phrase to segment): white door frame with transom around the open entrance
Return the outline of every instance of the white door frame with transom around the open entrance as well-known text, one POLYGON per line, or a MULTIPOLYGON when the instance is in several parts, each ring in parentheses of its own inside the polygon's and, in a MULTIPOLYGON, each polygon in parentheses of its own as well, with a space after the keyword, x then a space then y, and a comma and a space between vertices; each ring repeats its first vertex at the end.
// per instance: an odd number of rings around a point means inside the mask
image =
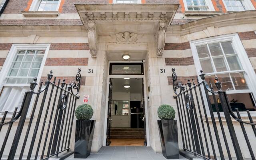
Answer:
POLYGON ((150 146, 149 141, 149 125, 148 125, 148 104, 146 102, 147 90, 146 90, 146 76, 145 76, 145 63, 144 61, 109 61, 108 62, 108 81, 107 81, 107 92, 106 92, 106 107, 105 107, 105 116, 104 116, 104 135, 103 135, 103 146, 106 146, 106 132, 107 132, 107 117, 108 117, 108 90, 109 90, 109 80, 110 78, 143 78, 144 83, 144 107, 145 107, 145 120, 146 120, 146 138, 147 146, 150 146), (142 63, 143 62, 143 75, 109 75, 110 63, 142 63))

